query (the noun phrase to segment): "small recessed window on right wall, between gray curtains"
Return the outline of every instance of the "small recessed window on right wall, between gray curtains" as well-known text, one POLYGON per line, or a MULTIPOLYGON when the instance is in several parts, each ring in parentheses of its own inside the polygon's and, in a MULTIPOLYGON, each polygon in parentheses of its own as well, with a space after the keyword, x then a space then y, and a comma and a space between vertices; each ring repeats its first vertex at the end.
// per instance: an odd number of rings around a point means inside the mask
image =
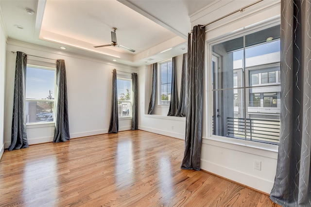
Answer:
POLYGON ((172 61, 159 64, 160 68, 160 104, 168 105, 171 101, 172 61))

